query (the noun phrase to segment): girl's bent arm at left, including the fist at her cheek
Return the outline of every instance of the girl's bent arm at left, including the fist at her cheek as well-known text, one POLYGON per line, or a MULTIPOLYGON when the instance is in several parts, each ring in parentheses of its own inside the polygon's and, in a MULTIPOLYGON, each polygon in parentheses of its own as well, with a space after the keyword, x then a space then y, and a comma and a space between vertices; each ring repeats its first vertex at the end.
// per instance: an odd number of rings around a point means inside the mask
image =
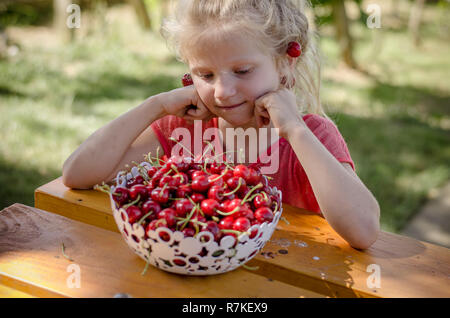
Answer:
POLYGON ((187 122, 213 116, 193 85, 149 97, 84 141, 64 162, 63 183, 70 188, 90 189, 110 181, 125 164, 141 162, 149 152, 155 154, 158 146, 162 147, 150 124, 166 115, 182 117, 187 122), (191 109, 191 105, 195 108, 191 109))

